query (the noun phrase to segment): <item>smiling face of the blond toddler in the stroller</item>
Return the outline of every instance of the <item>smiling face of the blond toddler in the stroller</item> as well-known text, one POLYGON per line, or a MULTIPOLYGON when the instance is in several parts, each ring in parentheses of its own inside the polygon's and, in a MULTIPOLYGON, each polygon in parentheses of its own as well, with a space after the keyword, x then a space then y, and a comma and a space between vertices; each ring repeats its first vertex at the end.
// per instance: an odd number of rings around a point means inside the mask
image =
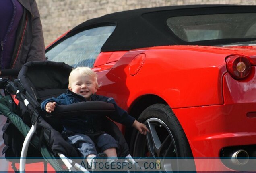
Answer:
POLYGON ((68 89, 78 95, 82 95, 85 99, 90 99, 91 95, 97 91, 97 86, 95 78, 87 75, 83 76, 76 72, 72 76, 68 89))

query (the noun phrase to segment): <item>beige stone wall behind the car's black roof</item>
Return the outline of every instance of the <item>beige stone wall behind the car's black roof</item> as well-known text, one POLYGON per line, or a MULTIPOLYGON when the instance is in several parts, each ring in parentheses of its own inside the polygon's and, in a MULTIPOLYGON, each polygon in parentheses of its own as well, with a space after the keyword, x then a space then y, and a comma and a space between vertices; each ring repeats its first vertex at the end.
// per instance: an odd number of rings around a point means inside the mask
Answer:
POLYGON ((256 0, 36 0, 41 15, 45 46, 85 20, 105 14, 170 5, 243 4, 256 0))

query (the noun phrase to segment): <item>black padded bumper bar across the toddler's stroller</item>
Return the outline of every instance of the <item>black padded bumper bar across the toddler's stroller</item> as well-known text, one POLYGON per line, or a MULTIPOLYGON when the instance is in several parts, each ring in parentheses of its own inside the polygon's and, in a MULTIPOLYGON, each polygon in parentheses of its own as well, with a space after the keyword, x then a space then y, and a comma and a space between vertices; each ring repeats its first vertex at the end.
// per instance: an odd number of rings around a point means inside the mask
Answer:
POLYGON ((57 105, 54 111, 52 113, 48 113, 46 117, 85 115, 89 113, 100 113, 101 115, 107 115, 115 111, 115 107, 112 103, 103 101, 86 101, 72 103, 70 105, 57 105))

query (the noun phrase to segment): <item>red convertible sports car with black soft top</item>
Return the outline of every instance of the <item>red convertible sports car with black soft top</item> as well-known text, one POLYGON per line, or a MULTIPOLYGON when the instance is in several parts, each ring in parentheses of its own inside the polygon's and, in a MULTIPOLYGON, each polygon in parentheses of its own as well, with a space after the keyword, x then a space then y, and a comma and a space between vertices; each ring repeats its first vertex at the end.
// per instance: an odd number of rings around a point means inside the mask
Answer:
POLYGON ((93 68, 97 94, 148 125, 146 136, 120 125, 132 156, 192 157, 197 171, 255 169, 256 6, 116 12, 66 32, 46 56, 93 68))

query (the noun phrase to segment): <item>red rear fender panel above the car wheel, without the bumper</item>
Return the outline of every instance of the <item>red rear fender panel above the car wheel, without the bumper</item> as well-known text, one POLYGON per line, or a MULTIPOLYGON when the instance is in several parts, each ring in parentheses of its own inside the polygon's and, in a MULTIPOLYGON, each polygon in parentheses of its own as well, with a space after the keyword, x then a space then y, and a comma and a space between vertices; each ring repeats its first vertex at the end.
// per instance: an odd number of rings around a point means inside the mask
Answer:
MULTIPOLYGON (((124 101, 124 103, 119 103, 124 109, 128 109, 136 98, 147 94, 158 95, 172 109, 219 105, 223 104, 223 95, 220 93, 223 90, 223 76, 227 72, 225 58, 232 54, 239 54, 239 52, 231 48, 165 46, 151 50, 129 51, 116 64, 97 66, 95 71, 98 72, 99 81, 103 83, 101 89, 108 91, 108 93, 104 94, 111 96, 109 94, 112 93, 111 90, 116 90, 113 86, 118 87, 121 85, 129 89, 128 94, 122 93, 127 99, 124 99, 124 97, 122 99, 115 98, 117 101, 124 101), (219 50, 219 53, 216 49, 219 50), (213 50, 215 51, 214 54, 211 53, 213 50), (157 55, 154 54, 156 51, 157 55), (142 68, 136 75, 131 76, 129 64, 136 55, 141 53, 144 53, 146 56, 142 68), (161 58, 156 63, 155 59, 157 57, 161 58), (182 60, 180 60, 181 58, 182 60), (201 62, 198 63, 198 61, 194 60, 195 58, 200 58, 201 62), (111 68, 112 65, 114 66, 111 68), (102 72, 107 66, 111 70, 109 72, 102 72), (157 72, 154 75, 150 72, 154 69, 162 70, 161 73, 157 72), (169 73, 170 69, 171 74, 169 73), (111 74, 115 74, 115 76, 111 74), (105 75, 107 78, 105 78, 105 75), (148 80, 149 78, 151 80, 148 80), (159 80, 164 80, 165 85, 163 86, 162 82, 158 82, 159 80), (194 92, 191 92, 193 90, 194 92)), ((252 56, 252 53, 249 52, 248 56, 252 56)), ((97 62, 99 62, 99 59, 97 59, 97 62)), ((101 89, 99 89, 99 92, 101 92, 101 89)), ((113 91, 113 93, 115 92, 113 91)))

